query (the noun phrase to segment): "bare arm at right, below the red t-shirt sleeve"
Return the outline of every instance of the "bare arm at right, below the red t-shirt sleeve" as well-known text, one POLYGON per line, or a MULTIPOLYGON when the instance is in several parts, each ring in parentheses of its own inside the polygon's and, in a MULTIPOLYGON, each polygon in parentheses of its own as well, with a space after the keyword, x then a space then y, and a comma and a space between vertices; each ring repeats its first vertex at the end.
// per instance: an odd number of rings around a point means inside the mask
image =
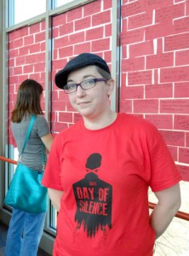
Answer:
POLYGON ((169 189, 155 192, 155 195, 158 198, 158 204, 152 211, 151 225, 157 239, 168 228, 180 208, 180 185, 177 183, 169 189))

